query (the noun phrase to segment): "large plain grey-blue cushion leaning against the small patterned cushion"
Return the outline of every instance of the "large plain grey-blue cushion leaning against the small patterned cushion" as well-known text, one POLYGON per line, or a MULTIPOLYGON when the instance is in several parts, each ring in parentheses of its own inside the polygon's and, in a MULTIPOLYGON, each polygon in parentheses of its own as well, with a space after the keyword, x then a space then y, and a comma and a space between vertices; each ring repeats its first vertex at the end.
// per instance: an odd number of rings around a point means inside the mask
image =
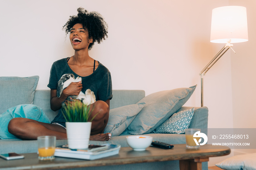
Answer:
POLYGON ((144 97, 138 103, 145 102, 146 105, 124 131, 124 134, 151 133, 187 102, 195 88, 196 86, 176 88, 155 92, 144 97))

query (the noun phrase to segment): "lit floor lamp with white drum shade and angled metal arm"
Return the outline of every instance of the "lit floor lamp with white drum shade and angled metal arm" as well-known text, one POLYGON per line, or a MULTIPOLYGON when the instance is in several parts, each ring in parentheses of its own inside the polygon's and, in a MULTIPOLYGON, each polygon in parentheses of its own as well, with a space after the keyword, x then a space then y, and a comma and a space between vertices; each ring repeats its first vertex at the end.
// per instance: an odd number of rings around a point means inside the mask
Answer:
POLYGON ((212 9, 210 41, 226 45, 199 74, 201 76, 201 107, 203 107, 203 76, 229 48, 233 47, 230 43, 248 41, 246 8, 226 6, 212 9))

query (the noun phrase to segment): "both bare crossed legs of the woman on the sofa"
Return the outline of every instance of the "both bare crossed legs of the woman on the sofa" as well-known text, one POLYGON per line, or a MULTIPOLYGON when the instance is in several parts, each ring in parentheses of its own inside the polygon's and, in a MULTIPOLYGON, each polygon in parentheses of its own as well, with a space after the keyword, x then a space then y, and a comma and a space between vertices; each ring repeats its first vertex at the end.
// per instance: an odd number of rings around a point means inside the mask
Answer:
MULTIPOLYGON (((109 141, 111 134, 103 134, 108 123, 109 107, 103 101, 91 104, 91 118, 95 114, 91 126, 91 141, 109 141)), ((90 120, 90 119, 89 119, 90 120)), ((8 131, 14 136, 25 140, 36 140, 38 136, 54 135, 56 139, 67 139, 64 127, 57 124, 43 123, 27 118, 13 118, 8 124, 8 131)))

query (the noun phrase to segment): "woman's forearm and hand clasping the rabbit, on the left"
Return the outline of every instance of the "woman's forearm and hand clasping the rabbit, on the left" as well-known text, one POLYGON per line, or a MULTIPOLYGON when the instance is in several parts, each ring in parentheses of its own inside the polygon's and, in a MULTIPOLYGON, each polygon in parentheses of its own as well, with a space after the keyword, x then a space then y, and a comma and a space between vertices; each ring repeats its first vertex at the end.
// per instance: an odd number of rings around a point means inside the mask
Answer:
POLYGON ((82 90, 81 82, 72 82, 67 88, 63 90, 60 97, 57 97, 57 90, 51 89, 50 96, 50 107, 53 111, 59 110, 61 108, 61 103, 64 102, 68 96, 79 95, 82 90))

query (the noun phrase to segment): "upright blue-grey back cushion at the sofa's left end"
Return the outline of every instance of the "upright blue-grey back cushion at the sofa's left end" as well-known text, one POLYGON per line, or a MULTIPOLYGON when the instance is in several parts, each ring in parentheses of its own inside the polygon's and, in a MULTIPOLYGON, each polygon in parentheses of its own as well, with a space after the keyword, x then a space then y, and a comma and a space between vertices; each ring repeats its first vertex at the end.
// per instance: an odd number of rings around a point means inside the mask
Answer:
POLYGON ((37 88, 39 76, 31 77, 0 77, 0 114, 8 108, 19 104, 33 104, 34 92, 37 88))

